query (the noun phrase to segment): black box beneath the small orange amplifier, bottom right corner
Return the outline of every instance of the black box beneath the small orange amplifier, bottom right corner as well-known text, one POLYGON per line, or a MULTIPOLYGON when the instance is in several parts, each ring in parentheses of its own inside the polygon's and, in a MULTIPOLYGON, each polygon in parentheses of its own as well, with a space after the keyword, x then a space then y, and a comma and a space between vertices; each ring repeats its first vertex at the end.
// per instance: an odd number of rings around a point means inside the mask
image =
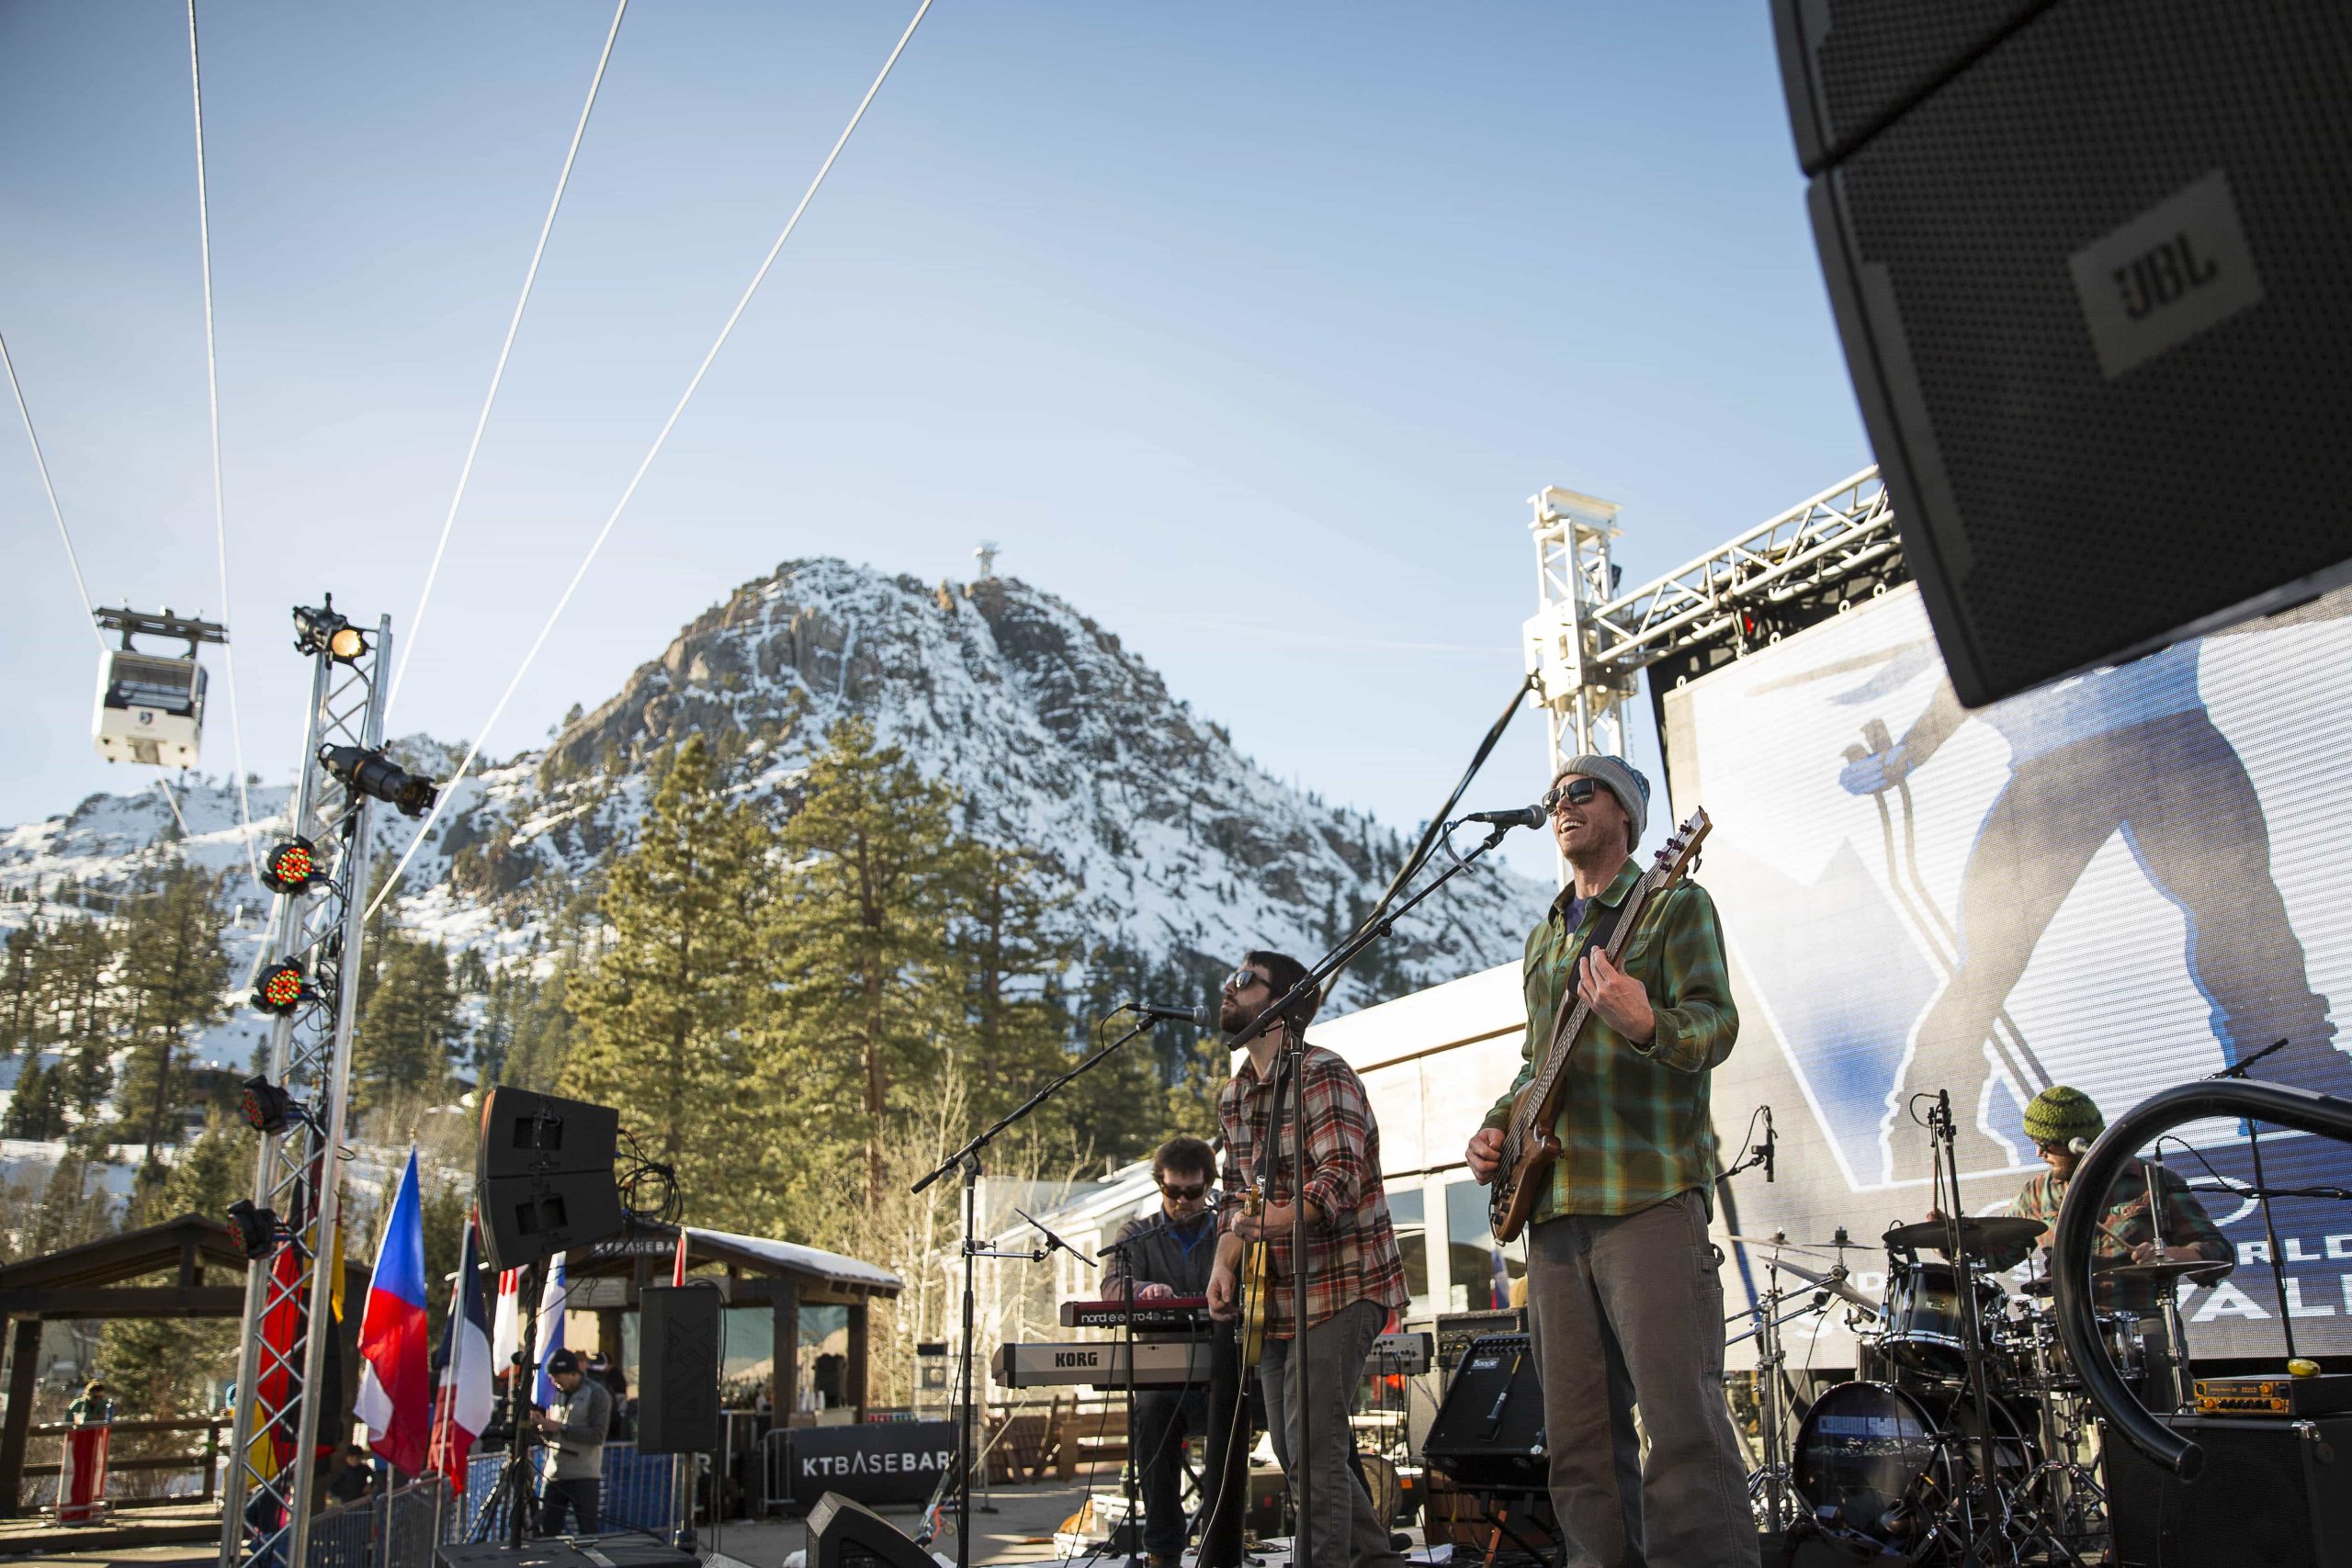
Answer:
POLYGON ((2352 1415, 2164 1415, 2204 1448, 2180 1481, 2112 1429, 2100 1432, 2107 1528, 2122 1568, 2352 1561, 2352 1415))

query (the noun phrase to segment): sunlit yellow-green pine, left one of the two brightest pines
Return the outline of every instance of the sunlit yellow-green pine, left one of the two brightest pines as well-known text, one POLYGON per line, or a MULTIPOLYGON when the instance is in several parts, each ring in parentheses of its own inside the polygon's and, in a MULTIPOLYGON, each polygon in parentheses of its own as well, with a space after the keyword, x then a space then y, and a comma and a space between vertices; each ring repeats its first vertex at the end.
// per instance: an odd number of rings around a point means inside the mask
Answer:
POLYGON ((609 945, 579 976, 564 1093, 619 1105, 640 1147, 677 1168, 699 1213, 739 1220, 762 1192, 771 1103, 748 1095, 743 1018, 762 992, 774 835, 727 797, 689 736, 604 891, 609 945))

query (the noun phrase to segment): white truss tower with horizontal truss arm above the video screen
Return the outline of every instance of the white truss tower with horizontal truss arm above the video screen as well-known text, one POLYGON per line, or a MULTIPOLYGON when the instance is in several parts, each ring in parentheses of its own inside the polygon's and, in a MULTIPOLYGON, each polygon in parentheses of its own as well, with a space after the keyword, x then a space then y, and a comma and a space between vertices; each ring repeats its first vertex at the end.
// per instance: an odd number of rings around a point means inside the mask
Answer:
MULTIPOLYGON (((1618 508, 1557 487, 1529 501, 1538 609, 1526 668, 1550 715, 1552 769, 1578 752, 1625 752, 1623 705, 1642 670, 1710 644, 1745 654, 1778 642, 1839 583, 1872 574, 1884 583, 1903 552, 1879 470, 1865 468, 1621 595, 1609 562, 1618 508)), ((1832 599, 1828 614, 1837 609, 1832 599)))

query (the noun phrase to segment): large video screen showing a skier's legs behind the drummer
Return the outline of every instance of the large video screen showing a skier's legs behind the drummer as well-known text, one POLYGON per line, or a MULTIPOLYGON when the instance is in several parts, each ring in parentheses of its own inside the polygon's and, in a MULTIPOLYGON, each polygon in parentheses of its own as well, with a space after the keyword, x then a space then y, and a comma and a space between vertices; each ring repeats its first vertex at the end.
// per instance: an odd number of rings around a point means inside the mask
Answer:
MULTIPOLYGON (((2070 1084, 2112 1119, 2277 1039, 2253 1074, 2352 1095, 2352 592, 1962 710, 1912 588, 1665 693, 1675 816, 1733 966, 1740 1044, 1715 1074, 1726 1161, 1771 1105, 1778 1180, 1717 1227, 1856 1248, 1931 1204, 1926 1100, 1947 1093, 1962 1197, 2042 1168, 2025 1103, 2070 1084)), ((2265 1133, 2270 1187, 2352 1187, 2352 1147, 2265 1133)), ((2199 1356, 2279 1354, 2279 1291, 2234 1121, 2164 1140, 2237 1248, 2187 1286, 2199 1356)), ((2352 1204, 2279 1199, 2296 1345, 2352 1349, 2352 1204)), ((1750 1291, 1759 1248, 1726 1248, 1750 1291)), ((1823 1269, 1835 1253, 1790 1253, 1823 1269)), ((1835 1316, 1835 1314, 1832 1314, 1835 1316)), ((1813 1352, 1846 1363, 1830 1324, 1813 1352)))

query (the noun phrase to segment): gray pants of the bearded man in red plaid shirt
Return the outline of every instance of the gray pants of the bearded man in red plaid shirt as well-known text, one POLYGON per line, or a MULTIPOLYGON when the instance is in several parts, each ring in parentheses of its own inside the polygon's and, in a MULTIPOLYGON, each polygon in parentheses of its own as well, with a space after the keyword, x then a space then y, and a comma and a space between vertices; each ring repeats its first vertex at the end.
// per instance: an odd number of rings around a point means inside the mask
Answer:
MULTIPOLYGON (((1355 1453, 1355 1389, 1364 1380, 1364 1356, 1381 1338, 1388 1307, 1348 1302, 1308 1328, 1308 1448, 1315 1474, 1298 1486, 1301 1507, 1315 1512, 1315 1561, 1305 1568, 1397 1568, 1404 1563, 1388 1544, 1388 1521, 1374 1519, 1371 1493, 1357 1479, 1348 1455, 1355 1453)), ((1272 1427, 1275 1458, 1284 1474, 1298 1450, 1298 1394, 1291 1373, 1291 1340, 1268 1340, 1258 1363, 1258 1387, 1265 1389, 1265 1425, 1272 1427)))

